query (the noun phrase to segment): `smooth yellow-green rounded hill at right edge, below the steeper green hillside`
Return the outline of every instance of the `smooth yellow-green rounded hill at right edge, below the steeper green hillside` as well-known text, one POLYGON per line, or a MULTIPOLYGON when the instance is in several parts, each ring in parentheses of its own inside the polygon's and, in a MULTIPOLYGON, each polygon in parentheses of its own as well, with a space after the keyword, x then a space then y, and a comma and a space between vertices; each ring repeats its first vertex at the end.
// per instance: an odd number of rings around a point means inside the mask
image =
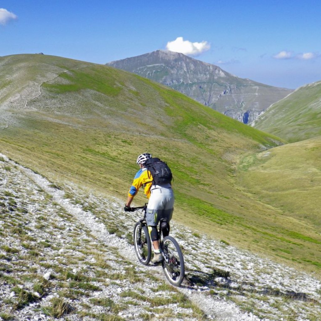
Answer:
POLYGON ((299 220, 306 219, 320 231, 320 157, 320 137, 280 146, 245 157, 240 166, 246 164, 246 169, 238 178, 262 202, 277 205, 299 220))

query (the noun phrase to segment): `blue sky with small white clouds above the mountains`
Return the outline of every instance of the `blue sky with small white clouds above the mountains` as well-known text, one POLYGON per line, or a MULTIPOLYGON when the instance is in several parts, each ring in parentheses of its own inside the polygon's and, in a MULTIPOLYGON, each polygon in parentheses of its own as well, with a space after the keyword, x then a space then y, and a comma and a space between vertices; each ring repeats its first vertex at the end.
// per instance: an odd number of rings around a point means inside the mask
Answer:
POLYGON ((98 64, 180 51, 242 78, 298 88, 321 80, 321 1, 0 1, 0 56, 98 64))

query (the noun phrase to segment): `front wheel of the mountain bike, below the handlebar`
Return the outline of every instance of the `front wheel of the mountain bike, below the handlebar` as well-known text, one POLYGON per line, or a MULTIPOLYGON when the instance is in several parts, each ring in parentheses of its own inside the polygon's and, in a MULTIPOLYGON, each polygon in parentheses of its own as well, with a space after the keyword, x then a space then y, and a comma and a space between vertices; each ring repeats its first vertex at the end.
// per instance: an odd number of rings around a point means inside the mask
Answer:
POLYGON ((138 260, 143 265, 148 265, 152 256, 151 239, 146 225, 137 222, 134 227, 134 246, 138 260))

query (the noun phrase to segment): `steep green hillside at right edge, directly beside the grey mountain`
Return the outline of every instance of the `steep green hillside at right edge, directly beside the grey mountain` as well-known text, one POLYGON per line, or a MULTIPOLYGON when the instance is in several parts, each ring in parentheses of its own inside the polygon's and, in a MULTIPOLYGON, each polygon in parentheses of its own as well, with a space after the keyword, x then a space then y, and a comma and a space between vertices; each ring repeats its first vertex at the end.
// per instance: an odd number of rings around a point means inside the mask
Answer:
POLYGON ((321 82, 300 87, 259 117, 255 128, 293 143, 321 135, 321 82))

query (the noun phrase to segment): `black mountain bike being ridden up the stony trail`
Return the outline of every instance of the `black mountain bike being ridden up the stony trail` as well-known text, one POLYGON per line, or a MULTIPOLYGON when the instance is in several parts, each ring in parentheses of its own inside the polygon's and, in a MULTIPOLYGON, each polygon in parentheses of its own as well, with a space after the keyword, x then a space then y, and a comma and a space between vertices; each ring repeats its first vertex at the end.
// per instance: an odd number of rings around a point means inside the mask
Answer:
MULTIPOLYGON (((132 207, 132 210, 136 211, 137 216, 140 218, 134 227, 136 255, 140 263, 148 265, 152 256, 152 241, 146 222, 147 204, 140 207, 132 207)), ((185 275, 184 257, 177 241, 172 236, 163 236, 161 226, 163 228, 169 227, 166 219, 160 220, 158 228, 160 253, 163 256, 161 262, 163 271, 171 284, 180 286, 185 275)))

